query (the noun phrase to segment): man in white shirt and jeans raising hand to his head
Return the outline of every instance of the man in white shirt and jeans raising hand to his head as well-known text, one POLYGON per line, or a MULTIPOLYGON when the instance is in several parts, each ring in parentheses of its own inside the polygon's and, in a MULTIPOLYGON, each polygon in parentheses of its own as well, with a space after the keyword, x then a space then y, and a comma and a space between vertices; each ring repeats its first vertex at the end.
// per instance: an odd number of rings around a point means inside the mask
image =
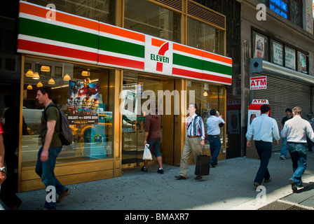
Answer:
POLYGON ((224 119, 219 116, 219 112, 215 109, 210 110, 210 117, 207 118, 206 125, 207 125, 207 140, 210 141, 210 155, 212 158, 210 159, 210 165, 215 167, 218 165, 218 155, 221 148, 221 141, 220 141, 220 126, 219 124, 224 124, 224 119), (216 116, 218 115, 218 116, 216 116))

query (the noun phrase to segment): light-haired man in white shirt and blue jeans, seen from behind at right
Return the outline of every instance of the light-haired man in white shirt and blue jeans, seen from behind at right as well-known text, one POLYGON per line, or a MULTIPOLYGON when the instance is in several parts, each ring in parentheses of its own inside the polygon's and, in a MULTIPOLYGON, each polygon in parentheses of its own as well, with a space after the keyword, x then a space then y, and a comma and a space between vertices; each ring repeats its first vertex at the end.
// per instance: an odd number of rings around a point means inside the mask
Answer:
POLYGON ((293 192, 298 191, 298 187, 302 187, 302 174, 306 169, 306 137, 310 141, 314 141, 314 132, 310 123, 301 118, 302 109, 299 106, 292 109, 294 118, 287 120, 281 136, 287 138, 287 149, 292 159, 292 168, 294 174, 289 179, 293 192))

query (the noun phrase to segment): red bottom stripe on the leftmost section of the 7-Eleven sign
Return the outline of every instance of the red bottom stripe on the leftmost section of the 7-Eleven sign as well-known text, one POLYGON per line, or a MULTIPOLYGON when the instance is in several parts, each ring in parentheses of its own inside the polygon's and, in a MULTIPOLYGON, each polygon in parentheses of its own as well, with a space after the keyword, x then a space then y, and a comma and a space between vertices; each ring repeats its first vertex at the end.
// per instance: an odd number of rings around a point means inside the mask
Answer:
POLYGON ((18 49, 97 62, 97 52, 88 52, 72 48, 64 48, 57 45, 25 41, 22 39, 18 39, 18 49))

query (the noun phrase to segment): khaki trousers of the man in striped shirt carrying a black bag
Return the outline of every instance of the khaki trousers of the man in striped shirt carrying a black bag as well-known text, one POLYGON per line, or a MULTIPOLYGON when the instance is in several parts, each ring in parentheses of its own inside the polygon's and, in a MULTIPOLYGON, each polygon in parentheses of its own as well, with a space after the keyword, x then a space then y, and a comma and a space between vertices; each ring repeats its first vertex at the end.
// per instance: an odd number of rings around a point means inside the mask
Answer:
POLYGON ((184 148, 182 152, 181 162, 180 162, 180 175, 186 178, 188 174, 188 159, 189 155, 193 153, 194 161, 198 159, 198 155, 202 155, 202 149, 200 148, 200 138, 189 138, 186 137, 184 141, 184 148))

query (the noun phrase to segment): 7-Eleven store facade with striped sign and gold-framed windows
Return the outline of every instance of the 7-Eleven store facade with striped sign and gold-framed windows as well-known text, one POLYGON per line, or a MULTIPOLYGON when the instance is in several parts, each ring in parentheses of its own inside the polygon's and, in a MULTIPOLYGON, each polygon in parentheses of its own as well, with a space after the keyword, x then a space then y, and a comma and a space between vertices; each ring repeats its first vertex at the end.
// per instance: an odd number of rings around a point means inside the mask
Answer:
MULTIPOLYGON (((57 158, 55 174, 64 184, 114 178, 142 166, 145 116, 154 100, 163 120, 163 162, 170 165, 179 165, 190 102, 204 122, 210 109, 227 117, 233 60, 226 53, 223 12, 190 0, 4 5, 0 91, 3 104, 7 95, 15 97, 20 114, 19 191, 44 187, 34 171, 43 112, 36 91, 42 85, 53 88, 75 137, 57 158)), ((1 104, 4 127, 7 109, 1 104)), ((227 155, 227 128, 221 128, 219 160, 227 155)))

